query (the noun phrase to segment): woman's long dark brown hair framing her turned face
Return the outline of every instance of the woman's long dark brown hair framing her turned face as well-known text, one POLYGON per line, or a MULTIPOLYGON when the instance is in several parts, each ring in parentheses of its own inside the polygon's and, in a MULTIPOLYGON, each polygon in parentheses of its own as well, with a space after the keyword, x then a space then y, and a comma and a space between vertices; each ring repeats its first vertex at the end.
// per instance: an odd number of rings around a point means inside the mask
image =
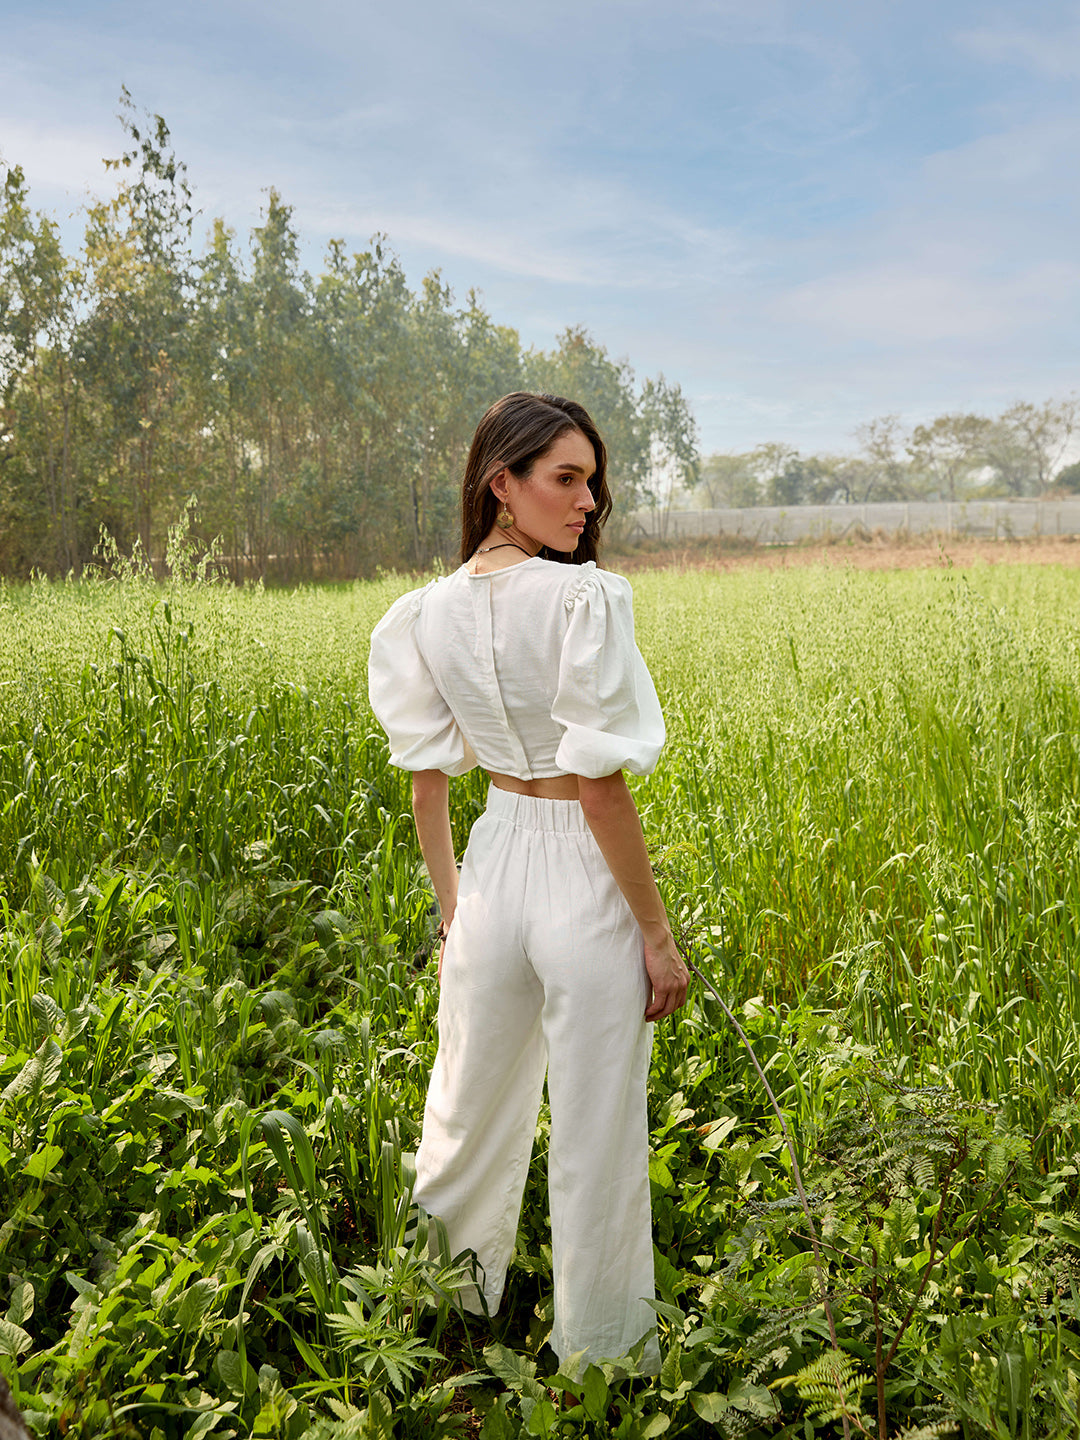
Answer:
POLYGON ((472 436, 465 480, 461 487, 461 559, 469 560, 495 523, 498 500, 491 492, 491 480, 500 469, 508 469, 516 480, 528 480, 533 465, 546 455, 566 431, 580 431, 596 456, 596 469, 589 481, 596 508, 585 517, 582 539, 573 552, 547 550, 549 560, 585 564, 595 560, 600 549, 600 530, 611 513, 608 490, 608 451, 589 412, 576 400, 560 395, 530 395, 514 390, 484 412, 472 436))

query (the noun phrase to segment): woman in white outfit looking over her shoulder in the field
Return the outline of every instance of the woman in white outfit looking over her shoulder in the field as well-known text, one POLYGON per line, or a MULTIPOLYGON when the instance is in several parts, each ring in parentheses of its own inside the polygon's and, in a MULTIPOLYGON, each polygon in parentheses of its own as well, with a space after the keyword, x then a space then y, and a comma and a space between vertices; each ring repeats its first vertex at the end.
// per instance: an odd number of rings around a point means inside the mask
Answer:
POLYGON ((390 608, 369 680, 442 913, 415 1198, 475 1250, 494 1313, 547 1071, 550 1344, 595 1361, 648 1336, 655 1369, 648 1022, 688 973, 624 779, 654 768, 664 719, 629 585, 595 564, 605 471, 580 405, 495 402, 465 465, 462 566, 390 608), (491 791, 458 877, 448 776, 477 763, 491 791))

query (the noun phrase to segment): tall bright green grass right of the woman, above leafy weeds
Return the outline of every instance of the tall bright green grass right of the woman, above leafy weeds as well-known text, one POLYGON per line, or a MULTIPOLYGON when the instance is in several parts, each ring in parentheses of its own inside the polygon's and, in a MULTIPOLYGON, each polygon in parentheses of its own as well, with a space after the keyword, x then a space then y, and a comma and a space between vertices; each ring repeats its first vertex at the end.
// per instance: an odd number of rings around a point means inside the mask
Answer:
POLYGON ((844 1008, 913 1083, 1038 1130, 1080 1061, 1074 576, 654 575, 638 596, 675 720, 645 792, 672 900, 752 994, 844 1008))

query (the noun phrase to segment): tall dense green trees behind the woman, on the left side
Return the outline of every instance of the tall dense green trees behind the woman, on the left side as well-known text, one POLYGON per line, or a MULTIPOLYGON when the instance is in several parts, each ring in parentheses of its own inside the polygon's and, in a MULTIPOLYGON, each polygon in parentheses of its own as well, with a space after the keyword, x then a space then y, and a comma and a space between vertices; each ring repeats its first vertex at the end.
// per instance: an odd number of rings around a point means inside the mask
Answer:
POLYGON ((454 553, 472 429, 500 395, 572 395, 609 445, 619 510, 693 487, 678 384, 638 383, 580 327, 524 348, 439 272, 410 289, 383 238, 300 262, 274 190, 246 252, 222 220, 196 253, 192 189, 161 117, 121 96, 117 189, 78 253, 0 196, 0 573, 79 573, 102 528, 148 559, 194 497, 235 577, 366 575, 454 553))

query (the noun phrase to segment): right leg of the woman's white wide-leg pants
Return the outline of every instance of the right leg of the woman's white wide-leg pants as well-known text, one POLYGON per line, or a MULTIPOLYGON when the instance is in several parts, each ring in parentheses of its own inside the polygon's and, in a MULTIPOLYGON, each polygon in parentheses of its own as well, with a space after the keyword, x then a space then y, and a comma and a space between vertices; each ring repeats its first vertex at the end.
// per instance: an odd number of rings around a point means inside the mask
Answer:
POLYGON ((573 806, 534 842, 524 943, 543 982, 549 1192, 560 1361, 649 1341, 657 1369, 647 1079, 652 1027, 641 930, 573 806))

